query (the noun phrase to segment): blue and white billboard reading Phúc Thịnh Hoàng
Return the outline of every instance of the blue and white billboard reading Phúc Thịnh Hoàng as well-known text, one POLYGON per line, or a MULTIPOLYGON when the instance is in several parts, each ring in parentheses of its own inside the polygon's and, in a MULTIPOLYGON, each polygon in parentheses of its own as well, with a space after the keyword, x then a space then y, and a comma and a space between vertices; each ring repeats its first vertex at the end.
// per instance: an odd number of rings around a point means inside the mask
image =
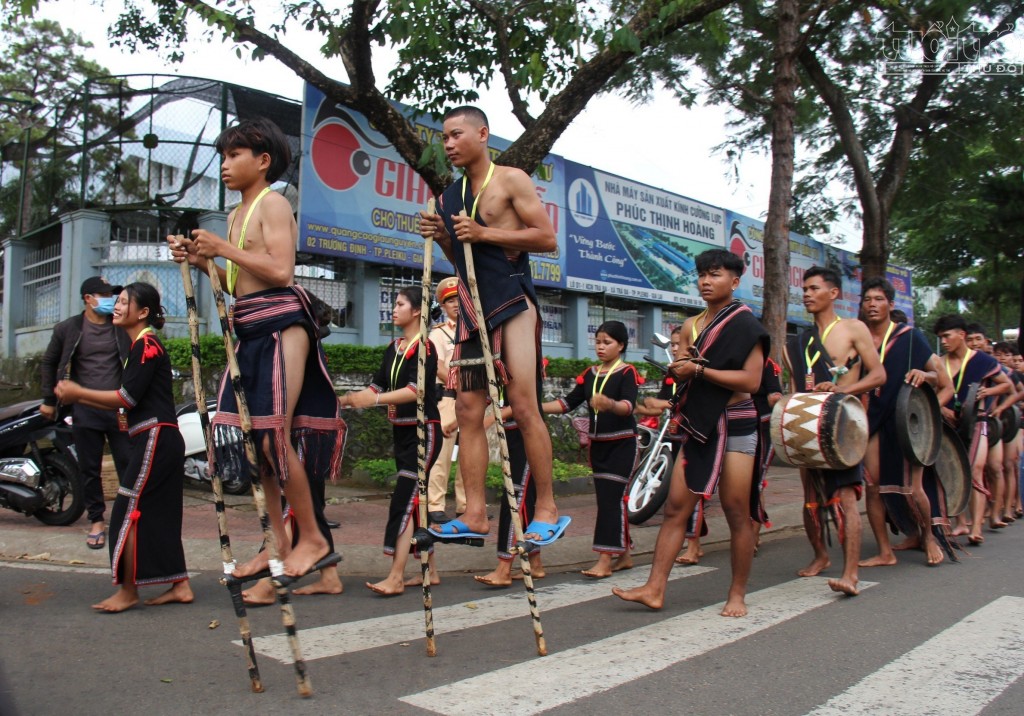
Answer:
POLYGON ((702 306, 694 256, 725 246, 724 212, 565 162, 566 288, 702 306))

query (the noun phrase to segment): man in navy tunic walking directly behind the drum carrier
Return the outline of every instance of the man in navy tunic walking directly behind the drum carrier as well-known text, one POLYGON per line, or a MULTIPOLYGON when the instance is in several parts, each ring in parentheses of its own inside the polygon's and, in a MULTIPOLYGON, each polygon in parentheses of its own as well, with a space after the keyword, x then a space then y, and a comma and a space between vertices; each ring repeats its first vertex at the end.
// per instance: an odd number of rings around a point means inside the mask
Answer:
MULTIPOLYGON (((874 533, 879 553, 861 560, 860 566, 888 566, 896 563, 896 553, 886 529, 886 507, 892 506, 890 517, 908 540, 902 548, 923 547, 926 563, 942 562, 942 548, 932 533, 932 505, 925 492, 922 465, 913 464, 900 449, 896 425, 896 401, 906 383, 920 386, 928 383, 937 392, 939 405, 953 394, 952 383, 940 370, 939 359, 932 351, 924 334, 906 324, 892 320, 896 291, 885 279, 868 279, 861 286, 861 317, 871 333, 886 382, 868 393, 867 424, 870 437, 864 455, 867 488, 867 520, 874 533), (883 494, 886 501, 883 502, 883 494), (905 500, 903 499, 905 496, 905 500), (907 509, 909 508, 909 515, 907 509), (910 517, 906 519, 903 515, 910 517), (909 522, 909 523, 908 523, 909 522)), ((945 528, 936 525, 944 545, 945 528)))

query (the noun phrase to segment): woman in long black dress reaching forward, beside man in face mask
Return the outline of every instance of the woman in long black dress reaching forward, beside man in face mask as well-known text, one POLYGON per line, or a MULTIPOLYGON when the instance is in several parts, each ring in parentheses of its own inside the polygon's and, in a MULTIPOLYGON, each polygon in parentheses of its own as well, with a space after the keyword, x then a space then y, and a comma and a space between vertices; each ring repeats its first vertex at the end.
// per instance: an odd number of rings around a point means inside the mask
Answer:
POLYGON ((138 603, 138 587, 170 584, 145 603, 193 600, 181 546, 181 464, 184 443, 174 416, 171 362, 155 329, 164 325, 160 294, 150 284, 125 286, 114 308, 114 325, 132 339, 119 390, 90 390, 70 381, 56 387, 61 403, 120 409, 131 440, 111 515, 111 572, 119 589, 93 608, 124 612, 138 603))

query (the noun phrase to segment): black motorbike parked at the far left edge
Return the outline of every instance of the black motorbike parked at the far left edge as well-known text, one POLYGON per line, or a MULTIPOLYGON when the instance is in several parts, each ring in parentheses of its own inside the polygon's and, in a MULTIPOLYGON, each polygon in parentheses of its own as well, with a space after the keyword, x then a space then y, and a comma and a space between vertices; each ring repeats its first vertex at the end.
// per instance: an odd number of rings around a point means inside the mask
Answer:
POLYGON ((85 511, 85 489, 71 427, 43 416, 42 404, 0 409, 0 507, 62 527, 85 511))

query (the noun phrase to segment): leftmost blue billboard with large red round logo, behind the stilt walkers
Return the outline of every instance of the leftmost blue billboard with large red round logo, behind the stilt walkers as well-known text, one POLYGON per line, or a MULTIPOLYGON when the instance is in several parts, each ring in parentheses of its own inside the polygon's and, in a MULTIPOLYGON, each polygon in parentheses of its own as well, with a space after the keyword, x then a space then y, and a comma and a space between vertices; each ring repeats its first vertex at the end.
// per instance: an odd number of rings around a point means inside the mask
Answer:
MULTIPOLYGON (((398 109, 406 111, 400 106, 398 109)), ((416 126, 428 140, 440 131, 429 120, 418 121, 416 126)), ((508 145, 508 141, 492 137, 492 151, 508 145)), ((327 100, 308 84, 302 112, 302 154, 300 251, 423 267, 417 212, 426 208, 430 187, 365 117, 327 100)), ((559 250, 532 256, 538 286, 565 285, 562 172, 561 158, 549 156, 532 177, 560 239, 559 250)), ((434 270, 455 272, 436 248, 434 270)))

